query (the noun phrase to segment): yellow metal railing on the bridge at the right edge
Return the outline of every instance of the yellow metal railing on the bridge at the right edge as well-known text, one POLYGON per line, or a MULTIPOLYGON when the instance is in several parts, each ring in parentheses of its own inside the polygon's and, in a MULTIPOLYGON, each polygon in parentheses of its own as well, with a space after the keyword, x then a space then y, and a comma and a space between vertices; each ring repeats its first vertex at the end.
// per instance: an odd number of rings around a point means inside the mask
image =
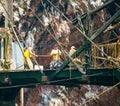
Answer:
POLYGON ((117 67, 120 64, 120 42, 92 46, 93 67, 117 67), (112 60, 112 61, 111 61, 112 60), (117 64, 117 65, 115 65, 117 64))

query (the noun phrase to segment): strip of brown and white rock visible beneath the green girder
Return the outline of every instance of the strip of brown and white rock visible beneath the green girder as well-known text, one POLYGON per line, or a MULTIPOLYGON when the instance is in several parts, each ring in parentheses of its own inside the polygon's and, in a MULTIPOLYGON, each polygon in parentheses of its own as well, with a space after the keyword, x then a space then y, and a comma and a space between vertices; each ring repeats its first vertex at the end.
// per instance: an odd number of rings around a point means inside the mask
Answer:
POLYGON ((26 106, 119 106, 120 91, 107 87, 37 86, 29 89, 26 106), (106 92, 104 92, 106 91, 106 92))

